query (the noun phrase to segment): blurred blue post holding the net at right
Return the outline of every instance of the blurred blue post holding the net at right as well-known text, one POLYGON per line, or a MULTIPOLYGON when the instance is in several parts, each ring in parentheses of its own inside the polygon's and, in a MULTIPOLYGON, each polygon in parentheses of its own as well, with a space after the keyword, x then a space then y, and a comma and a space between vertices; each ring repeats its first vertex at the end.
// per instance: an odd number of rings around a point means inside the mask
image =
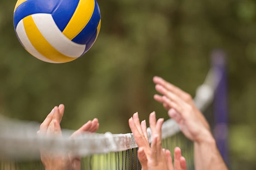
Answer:
POLYGON ((216 71, 220 82, 215 91, 214 98, 214 136, 226 164, 228 164, 228 110, 227 110, 227 73, 226 73, 226 55, 222 50, 212 52, 212 65, 216 71))

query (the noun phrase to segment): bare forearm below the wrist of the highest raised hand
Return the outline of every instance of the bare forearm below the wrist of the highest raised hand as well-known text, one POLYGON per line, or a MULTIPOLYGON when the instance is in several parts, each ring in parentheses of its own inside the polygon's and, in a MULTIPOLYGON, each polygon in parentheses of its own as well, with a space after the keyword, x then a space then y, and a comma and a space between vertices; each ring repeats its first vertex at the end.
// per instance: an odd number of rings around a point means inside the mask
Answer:
POLYGON ((204 141, 194 142, 194 154, 196 170, 227 170, 212 136, 206 137, 204 141))

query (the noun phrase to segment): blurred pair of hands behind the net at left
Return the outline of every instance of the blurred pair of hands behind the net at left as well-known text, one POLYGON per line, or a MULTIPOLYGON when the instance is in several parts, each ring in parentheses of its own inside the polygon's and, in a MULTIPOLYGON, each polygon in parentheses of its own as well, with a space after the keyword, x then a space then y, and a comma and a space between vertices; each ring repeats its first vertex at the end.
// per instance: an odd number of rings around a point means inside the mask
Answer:
MULTIPOLYGON (((64 105, 55 106, 47 115, 44 122, 40 125, 38 135, 61 137, 60 122, 64 114, 64 105)), ((78 136, 83 132, 96 132, 99 128, 98 119, 88 121, 70 137, 78 136)), ((56 154, 49 151, 41 150, 41 161, 46 170, 81 170, 81 157, 75 157, 71 154, 56 154)))

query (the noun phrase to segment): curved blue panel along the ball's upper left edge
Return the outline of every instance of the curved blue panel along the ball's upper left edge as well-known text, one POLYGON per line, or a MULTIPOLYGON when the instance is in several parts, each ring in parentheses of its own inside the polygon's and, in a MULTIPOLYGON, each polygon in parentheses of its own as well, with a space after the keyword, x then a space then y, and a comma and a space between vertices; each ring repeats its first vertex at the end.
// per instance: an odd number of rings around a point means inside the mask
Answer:
POLYGON ((51 14, 60 0, 27 0, 17 7, 14 13, 13 22, 16 29, 17 24, 24 17, 32 14, 45 13, 51 14))

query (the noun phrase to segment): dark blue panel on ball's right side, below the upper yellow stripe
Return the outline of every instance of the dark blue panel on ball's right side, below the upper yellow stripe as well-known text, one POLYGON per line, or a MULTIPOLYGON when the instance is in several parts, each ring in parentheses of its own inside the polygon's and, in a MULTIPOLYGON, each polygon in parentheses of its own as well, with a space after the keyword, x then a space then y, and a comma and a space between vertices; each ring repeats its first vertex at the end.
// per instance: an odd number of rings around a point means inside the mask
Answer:
POLYGON ((97 30, 97 27, 99 25, 99 20, 100 20, 100 11, 99 11, 98 3, 95 0, 95 8, 90 21, 72 41, 79 44, 87 45, 87 42, 91 40, 91 37, 93 36, 95 30, 97 30))

